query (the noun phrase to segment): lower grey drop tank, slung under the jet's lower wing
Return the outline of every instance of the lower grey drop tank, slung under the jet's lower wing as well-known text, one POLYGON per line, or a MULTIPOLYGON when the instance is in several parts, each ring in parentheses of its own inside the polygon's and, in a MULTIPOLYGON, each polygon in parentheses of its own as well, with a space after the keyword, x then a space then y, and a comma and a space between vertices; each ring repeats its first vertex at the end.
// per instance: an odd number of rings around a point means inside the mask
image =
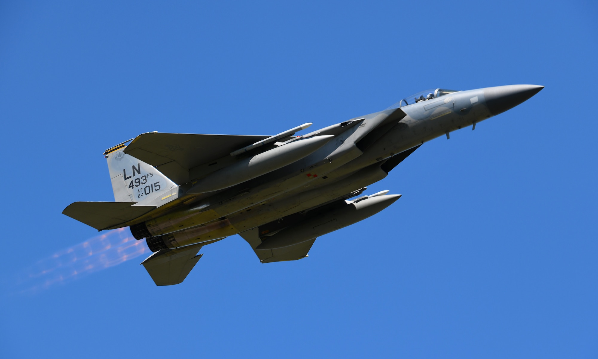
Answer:
POLYGON ((266 237, 256 250, 276 250, 300 244, 318 236, 325 235, 350 224, 365 220, 392 205, 401 194, 372 196, 358 202, 348 201, 345 206, 335 211, 316 215, 301 223, 289 226, 276 234, 266 237))

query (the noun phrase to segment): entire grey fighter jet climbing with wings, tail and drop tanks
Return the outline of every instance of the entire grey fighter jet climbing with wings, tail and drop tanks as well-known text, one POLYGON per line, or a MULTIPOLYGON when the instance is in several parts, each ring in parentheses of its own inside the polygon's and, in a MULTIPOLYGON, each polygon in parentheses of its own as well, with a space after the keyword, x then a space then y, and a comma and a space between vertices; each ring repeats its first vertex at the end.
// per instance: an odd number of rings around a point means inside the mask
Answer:
POLYGON ((178 284, 205 245, 239 234, 261 263, 307 257, 316 238, 401 197, 362 195, 422 144, 521 104, 544 86, 431 89, 304 135, 142 133, 103 154, 115 202, 62 213, 97 230, 129 226, 154 252, 156 285, 178 284))

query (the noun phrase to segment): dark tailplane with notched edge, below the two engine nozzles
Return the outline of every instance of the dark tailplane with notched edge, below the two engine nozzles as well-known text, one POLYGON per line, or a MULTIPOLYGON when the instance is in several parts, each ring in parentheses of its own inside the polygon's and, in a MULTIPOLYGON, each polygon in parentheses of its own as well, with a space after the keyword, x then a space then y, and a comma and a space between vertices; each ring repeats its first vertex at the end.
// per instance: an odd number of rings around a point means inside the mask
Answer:
POLYGON ((197 255, 197 252, 203 245, 198 243, 174 250, 160 250, 150 255, 141 264, 144 265, 151 279, 154 279, 155 285, 179 284, 187 278, 191 269, 202 258, 203 254, 197 255))

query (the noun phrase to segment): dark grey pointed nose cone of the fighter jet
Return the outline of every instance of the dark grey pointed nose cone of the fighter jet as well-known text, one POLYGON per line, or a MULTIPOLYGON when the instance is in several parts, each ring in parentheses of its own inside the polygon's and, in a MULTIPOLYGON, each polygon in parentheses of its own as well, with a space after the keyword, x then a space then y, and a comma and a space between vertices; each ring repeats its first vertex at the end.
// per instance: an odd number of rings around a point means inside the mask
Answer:
POLYGON ((544 86, 539 85, 508 85, 486 87, 484 89, 484 98, 486 98, 486 106, 493 115, 498 115, 507 109, 513 108, 521 102, 526 101, 544 86))

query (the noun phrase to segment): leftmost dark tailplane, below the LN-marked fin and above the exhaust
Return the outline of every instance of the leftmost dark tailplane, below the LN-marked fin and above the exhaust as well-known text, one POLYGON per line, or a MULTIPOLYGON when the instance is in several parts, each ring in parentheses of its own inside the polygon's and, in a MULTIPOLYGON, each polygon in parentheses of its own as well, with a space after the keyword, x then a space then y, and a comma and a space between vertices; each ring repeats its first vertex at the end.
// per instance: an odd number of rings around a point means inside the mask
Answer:
POLYGON ((62 211, 97 230, 125 227, 124 223, 146 214, 155 206, 133 206, 135 202, 75 202, 62 211), (122 225, 122 226, 121 226, 122 225))

